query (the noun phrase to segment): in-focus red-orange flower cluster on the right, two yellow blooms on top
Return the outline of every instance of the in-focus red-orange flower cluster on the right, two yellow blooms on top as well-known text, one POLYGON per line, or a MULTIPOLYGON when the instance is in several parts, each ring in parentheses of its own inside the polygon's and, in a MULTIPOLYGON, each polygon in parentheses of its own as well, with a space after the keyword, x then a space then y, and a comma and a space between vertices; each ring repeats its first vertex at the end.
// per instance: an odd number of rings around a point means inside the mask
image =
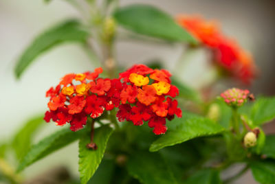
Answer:
POLYGON ((179 90, 170 84, 170 76, 164 69, 154 70, 145 65, 134 65, 120 73, 123 89, 118 120, 131 121, 136 126, 148 121, 148 126, 154 128, 153 133, 164 134, 167 130, 166 118, 181 117, 177 100, 171 98, 176 97, 179 90))

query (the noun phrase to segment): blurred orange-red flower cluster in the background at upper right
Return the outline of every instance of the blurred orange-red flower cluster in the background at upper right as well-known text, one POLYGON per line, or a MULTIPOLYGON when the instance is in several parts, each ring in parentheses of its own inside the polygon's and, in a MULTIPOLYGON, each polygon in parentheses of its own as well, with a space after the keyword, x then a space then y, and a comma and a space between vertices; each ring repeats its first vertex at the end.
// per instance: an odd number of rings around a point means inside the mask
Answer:
POLYGON ((199 16, 177 16, 177 22, 186 28, 203 45, 212 49, 214 60, 231 76, 250 83, 256 73, 252 56, 235 41, 224 36, 214 21, 206 21, 199 16))

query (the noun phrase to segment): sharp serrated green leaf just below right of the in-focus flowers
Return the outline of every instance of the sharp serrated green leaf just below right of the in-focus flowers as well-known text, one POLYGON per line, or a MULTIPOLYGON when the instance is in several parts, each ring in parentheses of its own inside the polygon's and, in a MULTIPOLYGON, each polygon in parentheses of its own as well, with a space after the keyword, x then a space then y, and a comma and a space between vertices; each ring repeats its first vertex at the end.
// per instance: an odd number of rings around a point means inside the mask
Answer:
POLYGON ((168 126, 168 131, 162 137, 159 137, 150 146, 150 151, 155 152, 166 146, 173 146, 196 137, 216 135, 222 133, 225 129, 212 120, 185 113, 183 117, 175 118, 168 126))

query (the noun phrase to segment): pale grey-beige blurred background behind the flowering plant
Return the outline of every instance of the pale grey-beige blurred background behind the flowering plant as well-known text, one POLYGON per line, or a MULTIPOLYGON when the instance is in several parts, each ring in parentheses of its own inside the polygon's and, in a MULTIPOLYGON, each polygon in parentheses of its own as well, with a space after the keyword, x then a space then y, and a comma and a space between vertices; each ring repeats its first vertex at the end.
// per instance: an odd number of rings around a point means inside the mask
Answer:
MULTIPOLYGON (((236 38, 242 47, 254 55, 259 67, 257 78, 249 89, 255 94, 275 95, 275 1, 221 1, 221 0, 122 0, 121 5, 148 3, 156 5, 166 12, 176 15, 201 14, 207 19, 216 19, 228 36, 236 38)), ((0 140, 8 140, 21 124, 33 115, 45 112, 47 99, 45 91, 58 82, 65 73, 83 72, 94 69, 85 51, 76 44, 56 47, 39 57, 28 68, 20 80, 13 73, 14 63, 21 51, 32 41, 34 36, 47 27, 80 14, 65 0, 53 0, 46 4, 42 0, 2 0, 0 1, 0 140)), ((168 69, 175 66, 181 56, 180 45, 156 45, 141 41, 117 41, 116 55, 121 65, 157 60, 161 58, 168 69)), ((194 60, 192 69, 203 71, 203 53, 189 58, 194 60), (195 67, 195 68, 194 68, 195 67)), ((203 76, 192 79, 181 72, 182 78, 193 87, 202 81, 203 76), (196 80, 198 82, 196 82, 196 80)), ((203 81, 202 81, 203 82, 203 81)), ((233 87, 229 83, 228 87, 233 87)), ((219 91, 221 92, 221 91, 219 91)), ((267 124, 267 132, 274 131, 272 124, 267 124)), ((54 124, 43 126, 35 137, 39 140, 58 129, 54 124)), ((62 163, 77 176, 78 148, 74 143, 49 157, 35 163, 25 170, 27 176, 34 176, 62 163)), ((228 171, 230 174, 230 171, 228 171)), ((250 172, 235 183, 255 183, 250 172)))

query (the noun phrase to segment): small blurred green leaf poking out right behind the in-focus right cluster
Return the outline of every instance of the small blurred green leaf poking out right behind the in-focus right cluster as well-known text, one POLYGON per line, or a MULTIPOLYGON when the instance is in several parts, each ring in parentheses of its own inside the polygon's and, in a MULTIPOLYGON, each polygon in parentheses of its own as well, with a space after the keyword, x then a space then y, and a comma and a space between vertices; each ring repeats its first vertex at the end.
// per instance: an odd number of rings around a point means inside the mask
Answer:
POLYGON ((201 102, 201 95, 199 95, 198 91, 188 87, 183 82, 179 82, 176 78, 172 78, 171 81, 172 84, 179 89, 179 97, 184 97, 195 102, 201 102))

